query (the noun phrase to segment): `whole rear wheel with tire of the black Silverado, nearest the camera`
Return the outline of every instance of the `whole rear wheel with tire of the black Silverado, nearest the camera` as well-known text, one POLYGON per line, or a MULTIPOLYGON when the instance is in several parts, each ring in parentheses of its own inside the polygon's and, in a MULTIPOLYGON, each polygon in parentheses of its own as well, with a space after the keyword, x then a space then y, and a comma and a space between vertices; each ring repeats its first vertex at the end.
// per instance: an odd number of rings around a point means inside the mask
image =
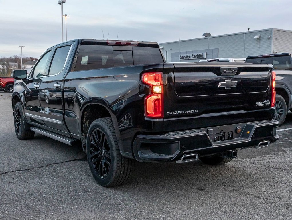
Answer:
POLYGON ((86 155, 91 173, 101 186, 122 185, 133 174, 135 161, 121 155, 111 118, 92 122, 87 133, 86 155))

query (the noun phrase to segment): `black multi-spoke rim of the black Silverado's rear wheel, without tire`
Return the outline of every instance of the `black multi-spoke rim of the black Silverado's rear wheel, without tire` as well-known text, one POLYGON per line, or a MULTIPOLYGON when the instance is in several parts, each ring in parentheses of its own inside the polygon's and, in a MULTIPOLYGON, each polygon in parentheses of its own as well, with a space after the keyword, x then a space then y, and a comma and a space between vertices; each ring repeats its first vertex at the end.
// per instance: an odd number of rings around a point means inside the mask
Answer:
POLYGON ((107 177, 111 165, 110 147, 105 133, 98 128, 90 137, 90 162, 100 178, 107 177))

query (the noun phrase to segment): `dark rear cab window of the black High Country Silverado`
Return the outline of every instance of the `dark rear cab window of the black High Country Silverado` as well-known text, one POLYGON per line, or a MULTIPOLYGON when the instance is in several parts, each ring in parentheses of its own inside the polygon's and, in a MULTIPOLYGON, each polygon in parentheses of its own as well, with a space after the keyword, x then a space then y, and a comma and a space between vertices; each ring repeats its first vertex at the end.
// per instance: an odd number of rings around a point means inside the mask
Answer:
POLYGON ((113 51, 110 45, 80 45, 75 71, 151 63, 164 63, 159 48, 133 46, 132 50, 113 51))

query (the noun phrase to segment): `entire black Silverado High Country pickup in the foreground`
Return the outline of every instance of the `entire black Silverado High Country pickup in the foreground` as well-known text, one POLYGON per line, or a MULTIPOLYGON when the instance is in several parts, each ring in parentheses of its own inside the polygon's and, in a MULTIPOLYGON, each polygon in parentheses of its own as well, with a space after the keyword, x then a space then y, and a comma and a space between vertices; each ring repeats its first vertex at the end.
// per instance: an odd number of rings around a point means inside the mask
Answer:
POLYGON ((134 161, 231 161, 276 141, 270 64, 167 64, 155 42, 77 39, 15 70, 16 136, 80 144, 96 181, 126 183, 134 161))

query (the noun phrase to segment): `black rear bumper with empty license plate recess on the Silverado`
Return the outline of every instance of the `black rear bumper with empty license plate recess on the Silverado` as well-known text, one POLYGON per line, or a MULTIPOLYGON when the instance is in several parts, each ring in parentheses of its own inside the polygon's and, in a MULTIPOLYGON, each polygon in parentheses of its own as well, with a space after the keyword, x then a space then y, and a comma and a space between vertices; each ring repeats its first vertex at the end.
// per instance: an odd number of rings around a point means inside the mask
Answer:
POLYGON ((184 155, 191 153, 200 157, 237 148, 260 148, 279 139, 276 136, 278 126, 278 121, 268 120, 163 135, 140 134, 133 142, 133 153, 138 161, 159 162, 180 160, 184 155), (237 133, 239 126, 242 130, 237 133), (215 137, 218 138, 218 133, 222 131, 226 136, 232 132, 232 138, 215 142, 215 137))

